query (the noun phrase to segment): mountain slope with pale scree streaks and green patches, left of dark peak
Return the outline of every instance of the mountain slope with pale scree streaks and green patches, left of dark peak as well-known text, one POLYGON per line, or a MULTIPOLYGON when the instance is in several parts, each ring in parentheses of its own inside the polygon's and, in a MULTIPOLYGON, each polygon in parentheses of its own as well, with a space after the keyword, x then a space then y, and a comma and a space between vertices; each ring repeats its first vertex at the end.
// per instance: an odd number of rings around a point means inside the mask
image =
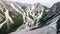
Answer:
POLYGON ((0 5, 3 6, 0 6, 2 12, 0 17, 4 15, 3 18, 0 19, 0 33, 2 34, 11 33, 17 29, 32 29, 42 26, 39 24, 43 24, 43 22, 39 20, 45 16, 45 13, 47 13, 49 9, 40 3, 26 4, 1 1, 0 5))

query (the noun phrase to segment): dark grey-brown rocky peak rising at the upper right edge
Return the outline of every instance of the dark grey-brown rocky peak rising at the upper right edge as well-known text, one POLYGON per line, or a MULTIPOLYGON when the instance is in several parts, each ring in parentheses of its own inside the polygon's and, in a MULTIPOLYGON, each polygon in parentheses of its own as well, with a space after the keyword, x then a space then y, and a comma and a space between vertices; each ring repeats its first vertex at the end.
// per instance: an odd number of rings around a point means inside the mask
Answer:
POLYGON ((60 2, 55 3, 48 11, 46 18, 60 13, 60 2))

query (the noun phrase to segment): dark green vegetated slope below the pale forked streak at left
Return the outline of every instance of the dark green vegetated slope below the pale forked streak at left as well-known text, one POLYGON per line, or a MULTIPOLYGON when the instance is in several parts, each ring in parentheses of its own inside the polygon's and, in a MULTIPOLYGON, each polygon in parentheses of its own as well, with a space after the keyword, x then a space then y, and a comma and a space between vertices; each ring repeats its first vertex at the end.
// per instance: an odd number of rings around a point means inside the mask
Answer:
POLYGON ((19 13, 9 12, 9 16, 12 18, 14 23, 12 24, 10 20, 8 20, 0 29, 1 34, 8 34, 14 32, 23 24, 23 16, 19 13))

